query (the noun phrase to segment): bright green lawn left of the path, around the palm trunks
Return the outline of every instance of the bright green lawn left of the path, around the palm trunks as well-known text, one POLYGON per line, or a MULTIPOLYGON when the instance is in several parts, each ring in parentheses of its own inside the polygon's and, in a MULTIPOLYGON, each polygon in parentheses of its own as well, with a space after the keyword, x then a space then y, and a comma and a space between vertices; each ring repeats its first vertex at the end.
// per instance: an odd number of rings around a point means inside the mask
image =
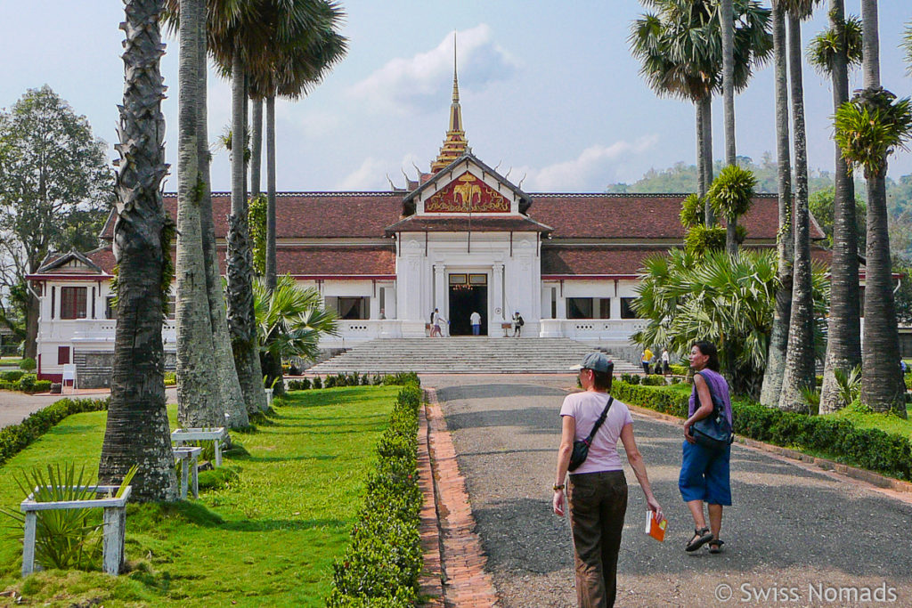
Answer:
MULTIPOLYGON (((201 490, 199 501, 128 508, 130 573, 111 582, 99 572, 39 572, 23 582, 21 544, 5 538, 0 589, 61 606, 95 598, 105 606, 322 606, 398 391, 293 393, 269 423, 233 435, 244 449, 225 459, 238 474, 227 487, 201 490)), ((174 410, 169 407, 172 425, 174 410)), ((7 462, 0 468, 0 505, 21 500, 16 469, 76 461, 95 471, 105 416, 68 417, 7 462)), ((8 601, 0 597, 0 605, 8 601)))

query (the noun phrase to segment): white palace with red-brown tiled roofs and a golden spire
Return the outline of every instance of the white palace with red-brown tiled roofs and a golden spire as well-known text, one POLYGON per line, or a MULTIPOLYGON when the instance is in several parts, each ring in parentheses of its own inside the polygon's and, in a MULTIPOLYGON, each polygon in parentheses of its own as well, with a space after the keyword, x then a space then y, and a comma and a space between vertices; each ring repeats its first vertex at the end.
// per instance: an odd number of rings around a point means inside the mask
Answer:
MULTIPOLYGON (((478 312, 482 335, 502 337, 519 312, 523 336, 623 345, 642 325, 630 305, 642 261, 683 241, 684 197, 523 191, 472 153, 454 74, 449 129, 430 172, 390 191, 277 194, 277 267, 337 312, 339 335, 326 348, 424 336, 435 308, 451 335, 471 335, 478 312)), ((176 194, 164 204, 176 218, 176 194)), ((229 193, 213 193, 222 264, 230 209, 229 193)), ((59 381, 76 364, 80 386, 109 382, 114 220, 112 211, 98 249, 52 255, 27 277, 41 294, 41 378, 59 381)), ((746 246, 774 247, 775 195, 758 195, 741 223, 746 246)), ((823 237, 816 224, 812 236, 823 237)), ((163 336, 172 364, 172 319, 163 336)))

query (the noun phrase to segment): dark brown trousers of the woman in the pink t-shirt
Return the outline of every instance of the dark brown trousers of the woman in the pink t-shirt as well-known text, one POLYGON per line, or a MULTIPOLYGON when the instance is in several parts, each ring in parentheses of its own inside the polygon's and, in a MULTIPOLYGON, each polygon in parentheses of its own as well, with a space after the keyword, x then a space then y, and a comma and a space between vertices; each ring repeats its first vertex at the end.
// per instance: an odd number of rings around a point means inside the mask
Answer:
POLYGON ((609 608, 617 595, 617 551, 627 512, 624 471, 570 476, 568 502, 576 565, 576 602, 609 608))

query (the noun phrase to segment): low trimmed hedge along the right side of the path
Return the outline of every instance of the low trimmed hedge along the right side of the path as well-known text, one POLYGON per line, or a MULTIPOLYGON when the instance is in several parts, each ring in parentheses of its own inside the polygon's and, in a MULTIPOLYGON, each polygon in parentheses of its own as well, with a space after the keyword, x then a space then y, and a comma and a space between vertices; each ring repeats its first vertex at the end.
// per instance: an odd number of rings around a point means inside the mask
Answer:
MULTIPOLYGON (((687 417, 689 396, 661 386, 631 386, 615 380, 611 394, 621 401, 687 417)), ((735 433, 783 448, 814 450, 896 479, 912 480, 912 443, 879 428, 855 428, 845 418, 785 412, 759 403, 732 400, 735 433)))

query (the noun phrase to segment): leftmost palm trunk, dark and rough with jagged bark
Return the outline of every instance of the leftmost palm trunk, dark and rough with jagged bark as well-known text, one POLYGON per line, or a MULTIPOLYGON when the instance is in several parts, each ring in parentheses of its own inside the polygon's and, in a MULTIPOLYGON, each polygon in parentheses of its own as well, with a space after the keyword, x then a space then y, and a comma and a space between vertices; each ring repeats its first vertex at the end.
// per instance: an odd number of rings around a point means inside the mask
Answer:
POLYGON ((159 62, 161 0, 127 0, 123 55, 125 88, 119 108, 118 219, 114 252, 119 268, 114 370, 98 480, 119 484, 133 465, 132 498, 177 498, 171 433, 165 408, 161 283, 173 225, 161 204, 164 98, 159 62))

